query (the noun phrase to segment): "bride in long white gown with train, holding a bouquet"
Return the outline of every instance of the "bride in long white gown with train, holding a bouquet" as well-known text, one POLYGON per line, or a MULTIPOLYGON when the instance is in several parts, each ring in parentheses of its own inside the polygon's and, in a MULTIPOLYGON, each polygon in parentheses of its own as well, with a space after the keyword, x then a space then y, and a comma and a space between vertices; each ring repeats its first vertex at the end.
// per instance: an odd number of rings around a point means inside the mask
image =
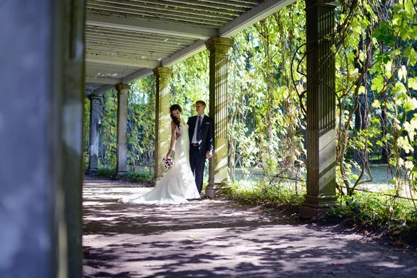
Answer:
POLYGON ((170 157, 174 151, 174 165, 156 183, 152 191, 139 197, 138 195, 122 197, 122 202, 134 204, 181 204, 188 202, 187 199, 199 199, 200 196, 190 168, 188 124, 181 117, 181 112, 182 108, 178 104, 170 107, 172 118, 171 142, 166 157, 170 157))

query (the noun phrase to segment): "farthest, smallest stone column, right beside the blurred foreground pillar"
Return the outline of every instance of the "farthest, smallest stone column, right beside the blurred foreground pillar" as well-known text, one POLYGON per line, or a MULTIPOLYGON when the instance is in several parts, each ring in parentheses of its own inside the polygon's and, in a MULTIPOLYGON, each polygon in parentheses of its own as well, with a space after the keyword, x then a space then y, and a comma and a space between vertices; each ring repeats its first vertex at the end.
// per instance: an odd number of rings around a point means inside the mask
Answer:
POLYGON ((99 167, 99 120, 101 97, 90 95, 90 147, 88 147, 88 174, 99 167))

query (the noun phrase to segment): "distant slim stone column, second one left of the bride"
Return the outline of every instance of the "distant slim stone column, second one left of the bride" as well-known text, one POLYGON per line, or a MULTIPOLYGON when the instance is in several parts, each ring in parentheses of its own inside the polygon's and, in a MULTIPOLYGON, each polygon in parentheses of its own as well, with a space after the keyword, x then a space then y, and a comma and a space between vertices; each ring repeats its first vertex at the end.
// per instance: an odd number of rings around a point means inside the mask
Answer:
POLYGON ((117 142, 116 142, 116 174, 127 172, 127 103, 129 84, 119 83, 117 90, 117 142))

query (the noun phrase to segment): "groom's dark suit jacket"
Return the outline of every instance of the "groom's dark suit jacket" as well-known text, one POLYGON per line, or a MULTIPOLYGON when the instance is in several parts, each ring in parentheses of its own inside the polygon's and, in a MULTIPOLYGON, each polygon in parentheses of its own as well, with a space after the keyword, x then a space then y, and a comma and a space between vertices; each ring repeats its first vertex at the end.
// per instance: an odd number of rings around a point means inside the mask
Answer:
MULTIPOLYGON (((197 128, 197 116, 188 118, 188 136, 190 137, 190 144, 193 143, 194 130, 197 128)), ((213 151, 213 134, 214 134, 214 121, 211 117, 204 115, 202 120, 201 142, 199 142, 199 153, 205 156, 207 151, 213 151)))

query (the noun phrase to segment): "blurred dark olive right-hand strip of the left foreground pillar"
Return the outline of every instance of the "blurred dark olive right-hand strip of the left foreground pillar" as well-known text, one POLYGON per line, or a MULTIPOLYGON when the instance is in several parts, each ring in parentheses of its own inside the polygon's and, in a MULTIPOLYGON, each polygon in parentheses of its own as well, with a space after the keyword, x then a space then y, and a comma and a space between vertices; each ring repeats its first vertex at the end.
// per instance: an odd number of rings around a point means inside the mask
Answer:
MULTIPOLYGON (((61 1, 63 36, 63 177, 67 220, 68 277, 83 275, 83 115, 85 0, 61 1)), ((59 202, 58 202, 59 204, 59 202)), ((61 228, 62 229, 62 228, 61 228)))

